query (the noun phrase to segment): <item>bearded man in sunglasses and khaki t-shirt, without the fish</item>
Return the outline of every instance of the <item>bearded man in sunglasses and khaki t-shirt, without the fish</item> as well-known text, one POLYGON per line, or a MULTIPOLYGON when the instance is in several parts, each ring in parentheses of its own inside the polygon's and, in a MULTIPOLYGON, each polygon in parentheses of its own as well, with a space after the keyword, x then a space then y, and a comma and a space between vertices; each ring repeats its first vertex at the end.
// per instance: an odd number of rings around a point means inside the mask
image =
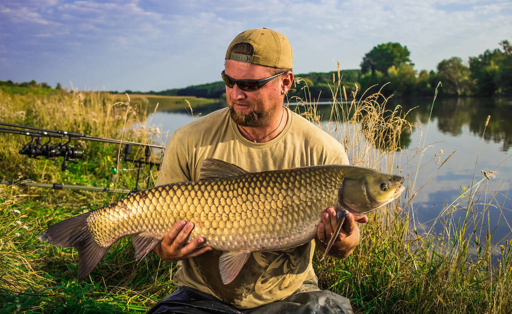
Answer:
MULTIPOLYGON (((162 161, 157 185, 198 180, 205 158, 217 158, 250 172, 317 164, 347 164, 338 141, 283 106, 292 86, 292 49, 288 39, 269 29, 239 34, 229 45, 222 78, 227 108, 197 119, 175 132, 162 161)), ((367 222, 365 216, 359 222, 367 222)), ((336 227, 333 208, 318 225, 316 245, 325 248, 336 227)), ((351 312, 348 299, 317 287, 311 260, 315 241, 276 252, 255 252, 229 284, 219 274, 222 252, 186 239, 191 222, 172 226, 158 256, 180 261, 174 283, 180 287, 150 312, 351 312), (193 310, 191 310, 193 309, 193 310)), ((359 229, 347 214, 330 250, 346 257, 359 242, 359 229)))

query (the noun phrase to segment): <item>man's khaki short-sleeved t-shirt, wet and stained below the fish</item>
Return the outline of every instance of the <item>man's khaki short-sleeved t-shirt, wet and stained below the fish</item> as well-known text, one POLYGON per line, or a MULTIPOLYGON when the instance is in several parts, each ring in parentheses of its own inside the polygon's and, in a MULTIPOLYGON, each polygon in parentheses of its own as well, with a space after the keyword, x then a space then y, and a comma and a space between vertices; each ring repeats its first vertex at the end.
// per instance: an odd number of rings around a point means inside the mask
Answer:
MULTIPOLYGON (((217 158, 249 172, 318 164, 348 164, 343 145, 288 108, 285 129, 274 139, 254 143, 244 138, 224 108, 176 130, 165 149, 157 185, 199 180, 205 158, 217 158)), ((169 226, 170 229, 171 226, 169 226)), ((240 274, 222 283, 219 257, 212 250, 178 262, 174 283, 193 287, 238 308, 284 299, 314 278, 314 241, 287 250, 254 252, 240 274)))

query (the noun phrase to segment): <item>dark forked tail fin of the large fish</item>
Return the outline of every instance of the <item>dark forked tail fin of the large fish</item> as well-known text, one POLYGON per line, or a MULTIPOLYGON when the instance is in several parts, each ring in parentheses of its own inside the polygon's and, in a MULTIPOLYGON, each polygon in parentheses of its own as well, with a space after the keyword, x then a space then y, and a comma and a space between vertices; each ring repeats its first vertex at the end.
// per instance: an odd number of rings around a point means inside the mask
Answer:
POLYGON ((42 232, 39 240, 63 247, 75 247, 78 250, 78 282, 86 278, 105 256, 108 247, 100 246, 94 240, 87 227, 87 218, 91 213, 85 213, 61 221, 42 232))

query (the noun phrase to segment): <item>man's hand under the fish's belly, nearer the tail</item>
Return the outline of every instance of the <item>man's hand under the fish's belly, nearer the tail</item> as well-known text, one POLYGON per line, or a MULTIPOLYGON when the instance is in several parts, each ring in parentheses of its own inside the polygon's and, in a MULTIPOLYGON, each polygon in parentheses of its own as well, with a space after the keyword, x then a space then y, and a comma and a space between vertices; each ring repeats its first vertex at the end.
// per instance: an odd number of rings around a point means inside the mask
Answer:
POLYGON ((204 238, 197 237, 190 243, 185 244, 188 235, 192 232, 194 224, 186 221, 178 221, 170 229, 155 247, 156 254, 166 262, 176 262, 190 257, 201 255, 213 248, 211 246, 202 246, 204 238))

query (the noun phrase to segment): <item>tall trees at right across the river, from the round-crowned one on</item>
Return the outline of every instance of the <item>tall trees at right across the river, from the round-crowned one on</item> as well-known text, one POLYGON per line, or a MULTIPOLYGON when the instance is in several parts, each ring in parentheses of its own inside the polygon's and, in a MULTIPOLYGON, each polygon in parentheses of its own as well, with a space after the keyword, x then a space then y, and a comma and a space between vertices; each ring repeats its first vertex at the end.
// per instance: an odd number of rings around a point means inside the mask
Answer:
POLYGON ((470 57, 468 66, 461 58, 444 59, 437 72, 414 69, 407 46, 398 43, 381 44, 368 52, 361 62, 361 88, 382 85, 384 93, 399 96, 431 96, 440 81, 440 95, 494 96, 512 94, 512 47, 508 40, 501 49, 486 50, 470 57))

